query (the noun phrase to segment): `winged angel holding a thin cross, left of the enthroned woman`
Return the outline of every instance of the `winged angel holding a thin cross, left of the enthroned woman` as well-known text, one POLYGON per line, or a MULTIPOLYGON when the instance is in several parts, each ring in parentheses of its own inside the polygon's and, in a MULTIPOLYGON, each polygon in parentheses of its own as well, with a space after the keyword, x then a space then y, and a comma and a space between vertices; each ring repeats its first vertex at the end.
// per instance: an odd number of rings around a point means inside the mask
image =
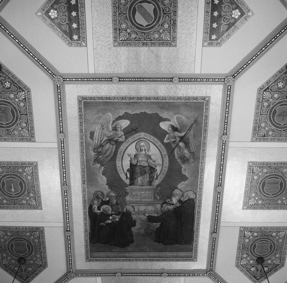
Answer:
POLYGON ((98 121, 94 132, 92 151, 93 165, 100 164, 101 169, 113 156, 117 142, 123 142, 123 129, 130 124, 129 120, 119 120, 112 124, 113 115, 108 112, 98 121))

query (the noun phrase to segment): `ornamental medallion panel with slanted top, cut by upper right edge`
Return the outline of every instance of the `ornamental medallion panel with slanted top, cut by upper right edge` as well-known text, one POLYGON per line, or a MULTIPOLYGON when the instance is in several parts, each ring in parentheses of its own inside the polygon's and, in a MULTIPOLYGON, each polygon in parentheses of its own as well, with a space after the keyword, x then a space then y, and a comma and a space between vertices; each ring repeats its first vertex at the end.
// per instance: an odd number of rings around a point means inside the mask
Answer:
POLYGON ((287 141, 287 80, 283 66, 258 88, 252 142, 287 141))

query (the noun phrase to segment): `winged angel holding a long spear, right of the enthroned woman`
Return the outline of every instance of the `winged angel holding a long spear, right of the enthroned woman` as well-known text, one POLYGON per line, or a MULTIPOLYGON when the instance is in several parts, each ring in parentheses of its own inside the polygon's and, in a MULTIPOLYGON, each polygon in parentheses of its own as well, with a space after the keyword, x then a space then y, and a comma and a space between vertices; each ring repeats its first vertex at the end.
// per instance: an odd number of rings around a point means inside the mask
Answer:
POLYGON ((182 115, 175 115, 173 122, 160 122, 160 127, 168 132, 164 142, 170 142, 173 146, 175 158, 185 170, 194 162, 194 153, 197 142, 195 140, 193 124, 182 115))

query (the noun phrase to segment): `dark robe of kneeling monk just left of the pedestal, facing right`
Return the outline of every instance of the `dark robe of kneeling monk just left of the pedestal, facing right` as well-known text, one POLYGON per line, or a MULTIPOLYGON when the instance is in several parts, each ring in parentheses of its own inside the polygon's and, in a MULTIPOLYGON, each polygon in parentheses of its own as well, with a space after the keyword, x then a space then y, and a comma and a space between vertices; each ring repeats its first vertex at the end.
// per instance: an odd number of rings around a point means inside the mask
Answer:
POLYGON ((122 212, 119 219, 117 232, 113 241, 109 243, 110 246, 128 247, 134 243, 134 236, 131 228, 135 227, 136 221, 128 212, 122 212))

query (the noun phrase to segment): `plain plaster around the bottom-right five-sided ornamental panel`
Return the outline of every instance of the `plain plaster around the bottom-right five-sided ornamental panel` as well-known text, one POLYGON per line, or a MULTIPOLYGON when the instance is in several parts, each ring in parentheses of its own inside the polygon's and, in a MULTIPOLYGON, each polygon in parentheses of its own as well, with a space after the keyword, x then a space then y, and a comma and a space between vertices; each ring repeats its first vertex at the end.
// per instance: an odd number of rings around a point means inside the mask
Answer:
MULTIPOLYGON (((247 226, 262 226, 262 223, 248 223, 247 226), (260 225, 257 225, 260 224, 260 225)), ((276 225, 273 225, 276 226, 276 225)), ((251 282, 239 269, 235 267, 238 236, 240 227, 221 227, 218 237, 215 272, 225 281, 232 283, 251 282)), ((272 276, 271 282, 285 282, 287 267, 284 266, 272 276)))

